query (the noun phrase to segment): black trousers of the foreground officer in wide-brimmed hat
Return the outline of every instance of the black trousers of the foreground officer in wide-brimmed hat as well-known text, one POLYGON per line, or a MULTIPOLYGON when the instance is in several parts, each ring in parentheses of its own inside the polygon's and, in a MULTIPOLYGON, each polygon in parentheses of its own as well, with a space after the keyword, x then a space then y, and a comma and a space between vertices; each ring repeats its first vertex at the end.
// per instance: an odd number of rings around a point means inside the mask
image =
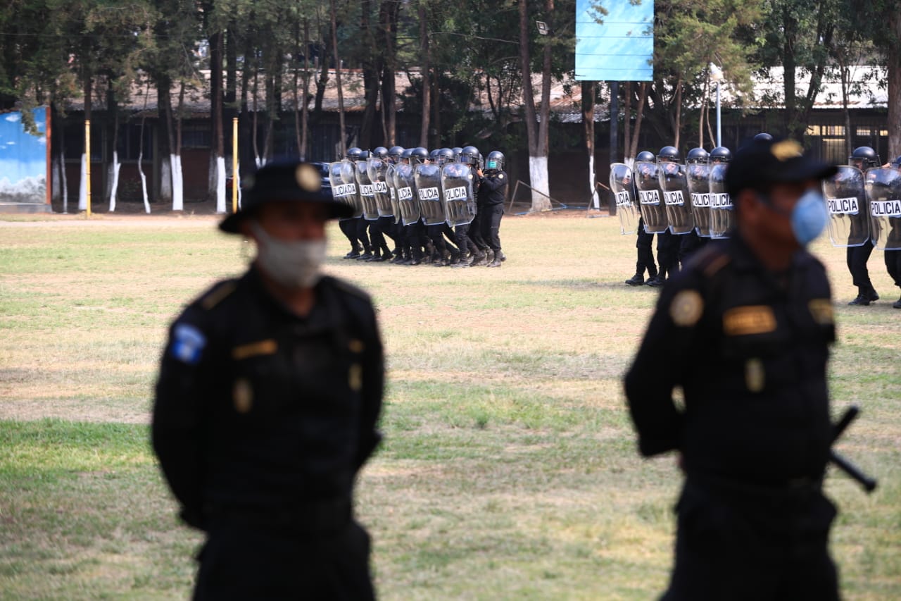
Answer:
POLYGON ((209 532, 198 560, 195 601, 375 599, 369 534, 356 522, 314 535, 220 526, 209 532))

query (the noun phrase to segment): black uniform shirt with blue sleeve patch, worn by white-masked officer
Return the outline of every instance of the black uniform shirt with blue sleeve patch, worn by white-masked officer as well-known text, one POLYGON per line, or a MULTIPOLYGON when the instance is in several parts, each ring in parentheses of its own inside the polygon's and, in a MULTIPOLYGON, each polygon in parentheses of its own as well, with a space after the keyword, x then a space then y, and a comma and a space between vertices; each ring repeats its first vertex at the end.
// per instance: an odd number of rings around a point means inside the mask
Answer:
POLYGON ((152 441, 189 523, 350 501, 378 445, 384 361, 369 297, 323 277, 299 317, 251 267, 169 330, 152 441))

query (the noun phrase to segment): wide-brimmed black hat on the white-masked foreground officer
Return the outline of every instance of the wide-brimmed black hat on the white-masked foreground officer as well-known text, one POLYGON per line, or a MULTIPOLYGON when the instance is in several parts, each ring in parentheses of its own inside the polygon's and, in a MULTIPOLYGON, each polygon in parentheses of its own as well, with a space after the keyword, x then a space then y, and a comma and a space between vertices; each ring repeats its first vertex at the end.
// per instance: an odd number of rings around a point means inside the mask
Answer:
POLYGON ((332 189, 323 188, 323 177, 316 165, 297 159, 268 162, 241 181, 241 209, 219 222, 229 234, 240 232, 241 221, 267 202, 315 202, 329 208, 330 218, 351 217, 353 208, 332 198, 332 189))

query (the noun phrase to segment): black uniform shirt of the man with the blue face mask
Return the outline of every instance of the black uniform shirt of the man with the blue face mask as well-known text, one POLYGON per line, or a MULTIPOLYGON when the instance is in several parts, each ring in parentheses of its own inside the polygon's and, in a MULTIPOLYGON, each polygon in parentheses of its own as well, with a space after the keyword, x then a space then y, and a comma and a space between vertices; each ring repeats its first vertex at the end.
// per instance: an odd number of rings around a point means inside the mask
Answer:
POLYGON ((776 275, 738 237, 707 245, 664 288, 625 377, 642 454, 678 449, 689 477, 821 478, 833 340, 829 282, 811 254, 776 275))

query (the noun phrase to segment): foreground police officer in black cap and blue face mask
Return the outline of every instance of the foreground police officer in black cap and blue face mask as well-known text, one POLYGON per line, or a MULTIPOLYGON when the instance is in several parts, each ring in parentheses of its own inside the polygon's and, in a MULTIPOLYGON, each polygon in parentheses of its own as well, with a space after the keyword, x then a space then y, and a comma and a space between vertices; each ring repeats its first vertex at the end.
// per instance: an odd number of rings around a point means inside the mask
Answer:
POLYGON ((678 451, 686 475, 664 599, 838 598, 822 493, 833 306, 805 250, 834 172, 790 140, 736 153, 737 231, 667 283, 625 376, 642 455, 678 451))

